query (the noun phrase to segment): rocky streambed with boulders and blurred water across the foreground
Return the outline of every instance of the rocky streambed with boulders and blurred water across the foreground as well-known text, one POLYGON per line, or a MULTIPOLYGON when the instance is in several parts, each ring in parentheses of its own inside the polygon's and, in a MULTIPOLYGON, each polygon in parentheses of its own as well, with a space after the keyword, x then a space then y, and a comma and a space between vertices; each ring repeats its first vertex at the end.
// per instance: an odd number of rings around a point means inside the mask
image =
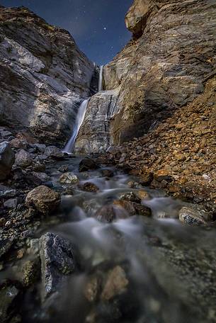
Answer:
POLYGON ((215 322, 212 212, 1 128, 1 322, 215 322))

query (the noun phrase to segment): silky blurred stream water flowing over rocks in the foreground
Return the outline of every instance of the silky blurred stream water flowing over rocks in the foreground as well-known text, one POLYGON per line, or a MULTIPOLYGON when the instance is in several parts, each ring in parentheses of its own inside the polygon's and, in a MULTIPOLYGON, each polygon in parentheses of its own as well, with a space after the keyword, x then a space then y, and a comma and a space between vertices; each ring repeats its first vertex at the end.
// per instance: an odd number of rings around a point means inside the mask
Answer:
POLYGON ((27 290, 22 322, 215 322, 215 229, 185 227, 176 220, 185 203, 161 191, 132 189, 129 184, 135 178, 116 169, 109 169, 113 176, 104 177, 108 167, 103 165, 79 173, 79 162, 79 157, 68 158, 50 166, 55 190, 71 191, 62 195, 57 214, 35 234, 55 232, 69 239, 76 249, 76 271, 55 297, 42 303, 41 283, 27 290), (79 183, 59 183, 57 169, 62 165, 79 177, 79 183), (86 182, 99 191, 84 191, 86 182), (152 209, 152 217, 139 212, 130 216, 125 210, 111 223, 96 217, 102 206, 140 190, 149 194, 142 205, 152 209), (163 213, 169 218, 158 219, 163 213))

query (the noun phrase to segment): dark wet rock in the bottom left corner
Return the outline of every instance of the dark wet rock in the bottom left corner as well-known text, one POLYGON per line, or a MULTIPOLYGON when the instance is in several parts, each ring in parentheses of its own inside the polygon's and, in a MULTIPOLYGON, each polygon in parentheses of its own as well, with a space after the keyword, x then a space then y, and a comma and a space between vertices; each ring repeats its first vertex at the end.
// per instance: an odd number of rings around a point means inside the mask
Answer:
POLYGON ((18 296, 18 289, 13 285, 8 285, 0 290, 0 321, 8 322, 13 315, 15 301, 18 296))

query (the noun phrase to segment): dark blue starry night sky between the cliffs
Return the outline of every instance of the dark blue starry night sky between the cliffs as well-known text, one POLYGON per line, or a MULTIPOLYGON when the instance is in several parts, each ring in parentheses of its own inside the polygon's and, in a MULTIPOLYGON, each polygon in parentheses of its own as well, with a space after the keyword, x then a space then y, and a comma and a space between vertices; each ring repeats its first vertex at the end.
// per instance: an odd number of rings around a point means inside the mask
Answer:
POLYGON ((0 0, 27 6, 48 23, 69 30, 79 48, 97 64, 110 62, 130 40, 125 13, 132 0, 0 0))

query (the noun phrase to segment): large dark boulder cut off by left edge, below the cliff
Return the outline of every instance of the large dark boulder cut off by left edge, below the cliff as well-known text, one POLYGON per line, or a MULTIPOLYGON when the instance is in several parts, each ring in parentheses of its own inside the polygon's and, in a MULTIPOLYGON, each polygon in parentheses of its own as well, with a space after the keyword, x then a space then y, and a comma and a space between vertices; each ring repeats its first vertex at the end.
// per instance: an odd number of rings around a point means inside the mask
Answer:
POLYGON ((14 152, 8 142, 0 144, 0 181, 6 179, 11 173, 11 168, 14 163, 14 152))

